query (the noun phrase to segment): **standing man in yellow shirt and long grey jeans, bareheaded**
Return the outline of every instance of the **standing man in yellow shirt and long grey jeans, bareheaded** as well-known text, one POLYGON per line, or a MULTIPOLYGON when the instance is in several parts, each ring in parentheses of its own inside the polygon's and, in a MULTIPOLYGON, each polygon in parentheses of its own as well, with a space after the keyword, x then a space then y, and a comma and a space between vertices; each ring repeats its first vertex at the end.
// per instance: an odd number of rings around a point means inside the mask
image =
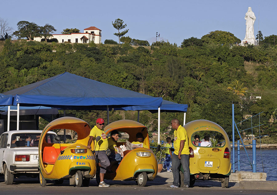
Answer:
MULTIPOLYGON (((189 187, 190 185, 190 149, 188 145, 188 136, 186 129, 180 125, 178 119, 173 119, 171 121, 172 129, 174 131, 174 153, 172 155, 172 173, 173 173, 173 184, 170 186, 172 188, 179 187, 179 166, 180 164, 184 169, 184 187, 189 187)), ((182 184, 180 184, 181 186, 182 184)))

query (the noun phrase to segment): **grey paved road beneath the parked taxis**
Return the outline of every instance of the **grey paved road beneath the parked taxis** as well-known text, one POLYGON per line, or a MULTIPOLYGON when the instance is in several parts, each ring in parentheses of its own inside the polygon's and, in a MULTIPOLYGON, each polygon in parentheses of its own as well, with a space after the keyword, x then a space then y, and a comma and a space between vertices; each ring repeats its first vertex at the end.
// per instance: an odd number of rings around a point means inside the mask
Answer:
MULTIPOLYGON (((218 181, 196 181, 192 188, 175 188, 169 186, 172 182, 172 173, 159 173, 154 181, 148 181, 145 187, 139 187, 134 181, 106 181, 111 185, 109 188, 99 188, 95 179, 90 180, 89 187, 74 187, 69 185, 69 181, 65 181, 62 185, 55 185, 47 182, 46 187, 41 187, 38 178, 18 178, 14 179, 13 185, 5 185, 3 176, 0 176, 0 194, 47 194, 47 195, 86 195, 86 194, 211 194, 211 195, 227 195, 227 194, 277 194, 277 190, 264 189, 240 189, 238 183, 229 183, 229 188, 221 188, 218 181)), ((253 188, 256 186, 253 186, 253 188)))

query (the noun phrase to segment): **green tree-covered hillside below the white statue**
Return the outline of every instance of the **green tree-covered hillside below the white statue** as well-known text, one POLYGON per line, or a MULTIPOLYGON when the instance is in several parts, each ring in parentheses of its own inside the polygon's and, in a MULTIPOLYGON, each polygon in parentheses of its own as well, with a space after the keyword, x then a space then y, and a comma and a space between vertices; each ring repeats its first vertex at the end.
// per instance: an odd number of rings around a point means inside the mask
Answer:
MULTIPOLYGON (((232 102, 235 121, 263 112, 253 119, 261 122, 263 134, 276 133, 277 47, 233 46, 205 39, 184 40, 181 47, 168 42, 152 46, 45 43, 26 40, 0 42, 0 93, 68 71, 110 85, 165 100, 188 104, 186 122, 207 119, 231 135, 232 102), (200 41, 199 41, 200 40, 200 41), (227 87, 237 82, 247 87, 245 98, 227 87), (262 93, 250 100, 249 92, 262 93)), ((236 40, 236 39, 234 39, 236 40)), ((101 111, 67 111, 94 125, 101 111)), ((111 111, 110 121, 136 120, 136 112, 111 111)), ((161 130, 170 128, 172 118, 183 121, 183 113, 162 113, 161 130)), ((140 122, 157 130, 157 114, 140 112, 140 122)), ((251 121, 240 125, 249 128, 251 121), (248 125, 248 126, 247 126, 248 125)), ((255 126, 253 125, 253 126, 255 126)), ((257 133, 259 128, 254 129, 257 133)), ((251 130, 245 132, 251 133, 251 130)), ((231 136, 230 136, 231 137, 231 136)))

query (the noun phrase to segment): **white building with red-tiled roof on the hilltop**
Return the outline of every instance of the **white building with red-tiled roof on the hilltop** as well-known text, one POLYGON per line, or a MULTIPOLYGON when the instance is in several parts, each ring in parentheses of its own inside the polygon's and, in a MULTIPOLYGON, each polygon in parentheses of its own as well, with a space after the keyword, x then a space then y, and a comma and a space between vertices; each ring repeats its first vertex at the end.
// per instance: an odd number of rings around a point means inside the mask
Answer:
MULTIPOLYGON (((95 26, 90 26, 84 29, 84 33, 71 33, 71 34, 52 34, 51 38, 56 38, 59 43, 101 43, 101 30, 95 26)), ((41 41, 41 37, 34 37, 34 41, 41 41)))

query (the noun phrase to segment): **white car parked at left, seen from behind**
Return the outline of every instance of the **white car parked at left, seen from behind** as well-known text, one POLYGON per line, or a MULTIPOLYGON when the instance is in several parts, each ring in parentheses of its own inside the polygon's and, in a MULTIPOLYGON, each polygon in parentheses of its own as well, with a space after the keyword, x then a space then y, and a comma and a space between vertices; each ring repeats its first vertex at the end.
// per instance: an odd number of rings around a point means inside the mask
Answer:
MULTIPOLYGON (((14 176, 38 176, 38 142, 42 131, 7 131, 0 136, 0 174, 4 173, 5 184, 12 184, 14 176)), ((57 143, 56 133, 47 133, 46 143, 57 143), (49 135, 48 135, 49 134, 49 135)))

